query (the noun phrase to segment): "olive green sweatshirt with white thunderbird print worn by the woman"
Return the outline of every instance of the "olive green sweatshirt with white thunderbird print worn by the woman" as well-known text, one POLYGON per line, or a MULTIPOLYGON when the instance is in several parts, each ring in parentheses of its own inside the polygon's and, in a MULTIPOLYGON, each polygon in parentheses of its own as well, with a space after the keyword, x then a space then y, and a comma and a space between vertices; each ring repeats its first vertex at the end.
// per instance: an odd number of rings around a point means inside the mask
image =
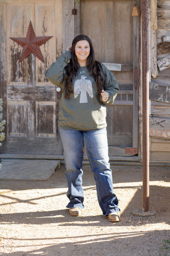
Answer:
MULTIPOLYGON (((46 71, 46 77, 58 87, 63 86, 65 67, 71 59, 71 53, 66 51, 60 59, 52 63, 46 71)), ((80 67, 77 76, 73 79, 73 93, 70 99, 64 98, 62 94, 58 126, 61 129, 89 131, 102 129, 106 124, 106 104, 112 104, 119 90, 117 81, 112 72, 101 64, 106 75, 104 90, 108 92, 109 98, 105 102, 97 98, 97 86, 94 78, 89 74, 86 66, 80 67)), ((105 76, 101 71, 105 80, 105 76)))

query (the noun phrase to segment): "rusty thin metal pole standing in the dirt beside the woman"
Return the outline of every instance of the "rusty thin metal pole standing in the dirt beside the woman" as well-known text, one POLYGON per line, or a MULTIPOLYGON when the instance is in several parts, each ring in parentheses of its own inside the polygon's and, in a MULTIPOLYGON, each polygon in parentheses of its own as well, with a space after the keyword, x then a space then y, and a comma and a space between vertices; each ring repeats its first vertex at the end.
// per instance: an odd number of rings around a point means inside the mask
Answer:
POLYGON ((142 0, 143 211, 149 211, 149 0, 142 0))

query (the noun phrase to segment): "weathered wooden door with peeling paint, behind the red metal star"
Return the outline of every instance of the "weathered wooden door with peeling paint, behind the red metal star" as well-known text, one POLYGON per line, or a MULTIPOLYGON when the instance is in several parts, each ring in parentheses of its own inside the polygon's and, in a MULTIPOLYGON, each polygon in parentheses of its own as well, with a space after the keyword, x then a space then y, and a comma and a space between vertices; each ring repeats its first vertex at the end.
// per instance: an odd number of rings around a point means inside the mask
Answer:
POLYGON ((45 70, 62 53, 61 10, 61 0, 1 1, 1 97, 7 121, 3 153, 62 154, 56 88, 45 78, 45 70), (10 37, 26 37, 30 21, 37 37, 53 36, 40 46, 45 63, 32 53, 18 63, 22 47, 10 37))

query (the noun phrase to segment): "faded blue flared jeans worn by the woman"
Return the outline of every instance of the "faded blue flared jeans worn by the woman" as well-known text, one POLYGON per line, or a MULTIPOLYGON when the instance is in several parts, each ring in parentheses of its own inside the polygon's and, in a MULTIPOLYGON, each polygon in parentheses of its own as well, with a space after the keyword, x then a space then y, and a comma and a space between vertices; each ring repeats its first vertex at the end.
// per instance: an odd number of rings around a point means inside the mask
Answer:
POLYGON ((119 212, 118 199, 113 191, 106 128, 92 131, 64 129, 59 129, 59 131, 64 149, 65 174, 68 184, 67 197, 70 199, 66 207, 84 209, 82 162, 83 147, 85 147, 96 181, 98 202, 103 214, 119 212))

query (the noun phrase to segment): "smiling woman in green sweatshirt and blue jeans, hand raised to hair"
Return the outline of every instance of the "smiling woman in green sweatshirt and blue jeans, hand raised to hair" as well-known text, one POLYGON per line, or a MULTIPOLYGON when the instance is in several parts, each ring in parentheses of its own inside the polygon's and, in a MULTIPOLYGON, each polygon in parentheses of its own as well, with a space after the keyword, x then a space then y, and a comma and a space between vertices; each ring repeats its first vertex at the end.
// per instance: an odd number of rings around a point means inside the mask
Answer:
POLYGON ((72 46, 46 71, 46 77, 62 87, 58 126, 70 199, 66 207, 70 215, 78 216, 80 209, 84 209, 82 162, 85 147, 101 210, 109 221, 119 221, 106 131, 106 104, 113 103, 119 90, 115 77, 102 63, 95 61, 94 48, 86 35, 73 39, 72 46))

